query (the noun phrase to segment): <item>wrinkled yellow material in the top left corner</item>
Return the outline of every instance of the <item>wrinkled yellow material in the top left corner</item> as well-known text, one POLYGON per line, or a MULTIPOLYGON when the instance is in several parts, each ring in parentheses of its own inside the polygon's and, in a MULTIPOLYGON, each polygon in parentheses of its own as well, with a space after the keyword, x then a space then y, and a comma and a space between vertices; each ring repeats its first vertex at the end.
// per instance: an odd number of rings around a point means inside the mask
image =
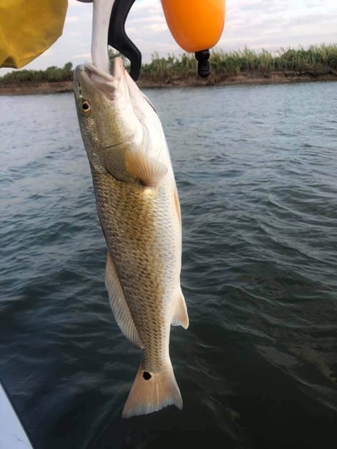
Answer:
POLYGON ((68 0, 0 0, 0 67, 20 69, 62 34, 68 0))

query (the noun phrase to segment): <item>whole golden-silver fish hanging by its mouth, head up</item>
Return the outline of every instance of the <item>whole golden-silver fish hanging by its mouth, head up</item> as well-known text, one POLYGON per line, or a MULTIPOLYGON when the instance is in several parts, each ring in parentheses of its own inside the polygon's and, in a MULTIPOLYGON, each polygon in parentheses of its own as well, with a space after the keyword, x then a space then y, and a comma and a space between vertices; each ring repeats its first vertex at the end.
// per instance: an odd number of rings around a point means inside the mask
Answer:
POLYGON ((174 404, 181 394, 169 357, 171 324, 188 327, 181 293, 181 215, 158 114, 121 59, 113 73, 74 73, 81 134, 106 238, 106 288, 121 331, 144 350, 123 415, 174 404))

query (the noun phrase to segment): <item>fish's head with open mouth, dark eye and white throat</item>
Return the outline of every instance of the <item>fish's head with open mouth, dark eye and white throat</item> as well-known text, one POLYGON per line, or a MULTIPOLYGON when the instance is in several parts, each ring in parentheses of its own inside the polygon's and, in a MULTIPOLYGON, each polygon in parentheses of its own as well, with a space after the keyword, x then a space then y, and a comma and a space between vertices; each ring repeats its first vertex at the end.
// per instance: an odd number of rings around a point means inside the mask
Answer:
POLYGON ((157 160, 161 153, 168 154, 161 151, 166 140, 158 113, 124 69, 121 58, 114 59, 110 74, 91 63, 77 66, 74 94, 84 146, 94 173, 109 172, 117 179, 127 180, 129 151, 157 160))

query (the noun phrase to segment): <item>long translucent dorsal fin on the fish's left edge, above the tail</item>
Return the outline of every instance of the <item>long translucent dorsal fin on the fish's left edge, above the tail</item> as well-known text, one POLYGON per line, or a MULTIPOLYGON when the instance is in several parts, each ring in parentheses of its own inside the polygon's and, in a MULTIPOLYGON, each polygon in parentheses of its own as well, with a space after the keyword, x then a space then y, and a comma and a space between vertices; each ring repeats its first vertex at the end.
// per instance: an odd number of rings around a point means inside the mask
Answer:
POLYGON ((129 306, 126 303, 123 289, 119 281, 119 276, 114 266, 114 261, 108 251, 106 258, 106 273, 105 273, 106 290, 109 293, 109 301, 111 309, 114 313, 117 324, 121 328, 126 338, 128 338, 134 345, 139 348, 144 348, 141 343, 141 338, 132 319, 129 306))

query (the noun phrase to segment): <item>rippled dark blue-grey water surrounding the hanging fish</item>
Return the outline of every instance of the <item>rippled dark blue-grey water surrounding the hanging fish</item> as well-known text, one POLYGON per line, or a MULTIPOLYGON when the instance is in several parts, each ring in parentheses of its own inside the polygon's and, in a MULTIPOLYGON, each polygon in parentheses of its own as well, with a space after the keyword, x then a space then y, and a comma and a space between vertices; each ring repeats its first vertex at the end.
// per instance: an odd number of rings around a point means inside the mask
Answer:
POLYGON ((191 324, 171 333, 183 411, 130 420, 141 353, 109 308, 73 96, 0 97, 0 375, 36 448, 329 447, 336 84, 146 94, 176 172, 191 324))

